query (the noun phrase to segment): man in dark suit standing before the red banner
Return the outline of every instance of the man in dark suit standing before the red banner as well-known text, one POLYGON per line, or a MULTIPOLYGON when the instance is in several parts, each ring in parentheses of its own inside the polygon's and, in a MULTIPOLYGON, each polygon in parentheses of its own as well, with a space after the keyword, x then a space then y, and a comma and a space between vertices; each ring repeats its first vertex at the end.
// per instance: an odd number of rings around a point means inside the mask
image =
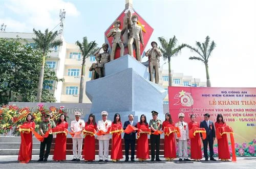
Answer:
POLYGON ((202 134, 201 138, 203 140, 204 144, 204 158, 205 161, 208 161, 208 153, 207 153, 207 147, 209 143, 209 150, 210 150, 210 160, 216 161, 214 159, 214 140, 215 140, 215 128, 214 128, 214 122, 209 120, 210 114, 206 113, 204 114, 204 120, 200 123, 200 128, 205 128, 206 130, 206 138, 203 139, 202 134))

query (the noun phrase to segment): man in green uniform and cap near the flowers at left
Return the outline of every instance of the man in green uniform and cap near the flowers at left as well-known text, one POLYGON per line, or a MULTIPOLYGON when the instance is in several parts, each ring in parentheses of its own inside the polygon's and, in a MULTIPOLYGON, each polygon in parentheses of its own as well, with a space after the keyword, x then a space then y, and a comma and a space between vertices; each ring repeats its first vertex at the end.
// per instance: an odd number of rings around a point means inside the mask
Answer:
MULTIPOLYGON (((56 127, 54 121, 50 120, 50 114, 48 112, 43 115, 43 118, 44 120, 39 125, 39 130, 42 136, 44 136, 49 129, 56 127)), ((47 161, 51 150, 52 138, 52 134, 49 134, 49 136, 46 137, 44 141, 40 142, 40 154, 37 161, 47 161), (44 155, 45 148, 46 154, 44 155)))

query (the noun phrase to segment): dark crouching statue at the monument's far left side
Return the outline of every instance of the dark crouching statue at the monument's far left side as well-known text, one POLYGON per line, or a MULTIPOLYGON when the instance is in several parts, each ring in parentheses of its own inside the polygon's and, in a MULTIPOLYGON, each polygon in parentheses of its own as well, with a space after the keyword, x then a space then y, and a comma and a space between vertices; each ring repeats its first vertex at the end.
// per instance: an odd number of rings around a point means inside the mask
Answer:
POLYGON ((100 47, 93 55, 97 63, 93 63, 90 67, 90 71, 92 71, 91 80, 102 78, 105 76, 105 67, 104 64, 110 61, 110 54, 108 53, 109 45, 107 43, 103 43, 102 47, 100 47), (99 53, 100 50, 103 49, 103 53, 99 53))

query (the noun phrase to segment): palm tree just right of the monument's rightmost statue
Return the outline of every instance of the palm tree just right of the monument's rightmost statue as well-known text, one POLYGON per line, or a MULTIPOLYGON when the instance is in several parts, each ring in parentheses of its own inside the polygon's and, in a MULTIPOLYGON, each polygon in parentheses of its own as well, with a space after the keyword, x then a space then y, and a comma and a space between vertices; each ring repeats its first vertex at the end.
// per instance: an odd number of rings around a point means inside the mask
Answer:
POLYGON ((173 38, 169 39, 169 42, 167 42, 166 39, 163 37, 159 37, 158 40, 161 43, 162 48, 160 48, 161 52, 163 53, 164 60, 168 59, 168 67, 169 67, 169 73, 168 73, 168 79, 169 79, 169 86, 172 86, 172 74, 170 69, 170 58, 174 56, 178 56, 178 54, 181 52, 181 49, 186 46, 186 44, 182 43, 181 45, 177 46, 177 38, 174 36, 173 38))

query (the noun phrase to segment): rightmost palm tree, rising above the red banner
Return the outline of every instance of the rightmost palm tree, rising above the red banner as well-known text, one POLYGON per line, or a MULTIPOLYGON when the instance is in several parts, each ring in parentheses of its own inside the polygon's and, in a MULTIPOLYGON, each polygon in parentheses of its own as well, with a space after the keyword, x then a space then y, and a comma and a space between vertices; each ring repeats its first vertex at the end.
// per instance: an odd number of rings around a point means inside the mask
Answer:
POLYGON ((211 52, 215 49, 216 44, 212 40, 209 45, 210 37, 206 36, 205 42, 200 43, 196 42, 197 48, 191 47, 187 45, 187 47, 192 51, 199 54, 199 57, 189 57, 190 60, 200 60, 205 64, 205 70, 206 70, 206 79, 207 79, 207 87, 210 87, 210 77, 209 77, 209 71, 208 71, 208 59, 211 55, 211 52))

